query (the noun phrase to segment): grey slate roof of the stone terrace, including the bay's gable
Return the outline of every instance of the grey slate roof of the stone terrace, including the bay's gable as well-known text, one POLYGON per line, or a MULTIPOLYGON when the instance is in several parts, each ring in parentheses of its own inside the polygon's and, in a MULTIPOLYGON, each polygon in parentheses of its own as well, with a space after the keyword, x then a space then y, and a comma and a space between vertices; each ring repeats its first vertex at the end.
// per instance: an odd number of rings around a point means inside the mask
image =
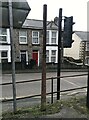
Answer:
MULTIPOLYGON (((22 28, 43 29, 43 20, 26 19, 22 28)), ((57 28, 54 21, 47 21, 47 29, 57 30, 57 28)))

